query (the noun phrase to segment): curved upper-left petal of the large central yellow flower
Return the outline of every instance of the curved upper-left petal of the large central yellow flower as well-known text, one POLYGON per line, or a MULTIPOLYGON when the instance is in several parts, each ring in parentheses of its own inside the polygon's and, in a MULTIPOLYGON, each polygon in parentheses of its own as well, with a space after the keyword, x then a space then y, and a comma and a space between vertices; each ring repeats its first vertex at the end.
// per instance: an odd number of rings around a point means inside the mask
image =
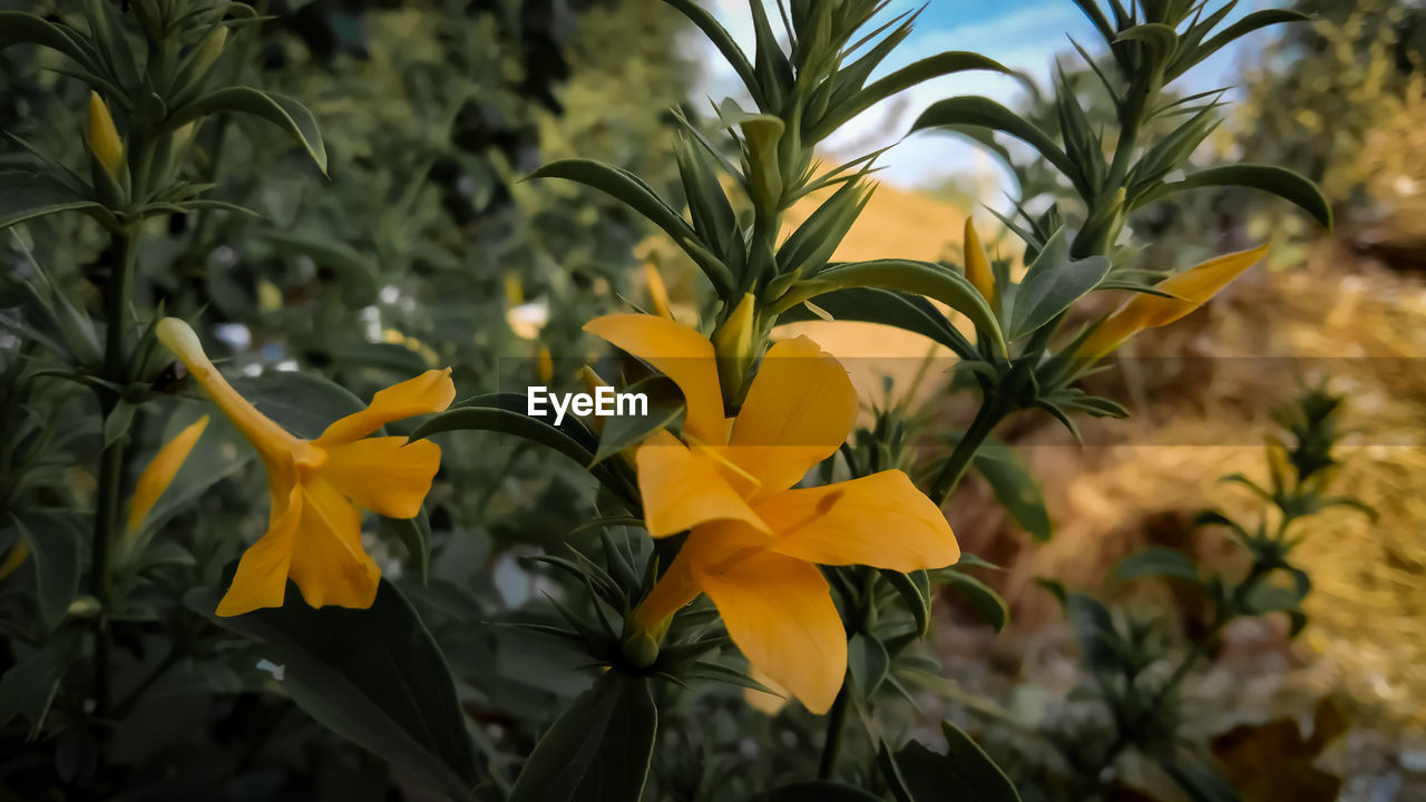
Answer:
POLYGON ((713 342, 667 318, 642 314, 597 317, 585 331, 607 340, 673 380, 687 402, 683 431, 709 444, 724 442, 723 391, 717 381, 713 342))

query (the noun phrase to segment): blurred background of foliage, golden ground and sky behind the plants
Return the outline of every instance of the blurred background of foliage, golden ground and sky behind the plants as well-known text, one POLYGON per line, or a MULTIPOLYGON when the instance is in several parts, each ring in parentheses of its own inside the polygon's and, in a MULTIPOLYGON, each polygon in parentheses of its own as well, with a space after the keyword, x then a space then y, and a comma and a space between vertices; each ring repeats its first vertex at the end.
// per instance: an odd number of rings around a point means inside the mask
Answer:
MULTIPOLYGON (((0 9, 46 6, 0 0, 0 9)), ((645 264, 663 274, 676 314, 697 320, 702 280, 642 220, 569 183, 522 181, 543 161, 579 156, 629 168, 677 197, 670 110, 706 118, 707 98, 736 84, 663 3, 258 6, 274 19, 238 37, 241 56, 222 68, 308 103, 327 137, 331 178, 272 130, 247 121, 210 126, 200 146, 205 180, 220 186, 214 197, 265 220, 174 217, 167 237, 151 238, 140 257, 140 291, 161 298, 170 314, 201 320, 228 364, 250 377, 317 370, 362 397, 449 364, 466 397, 535 382, 536 355, 548 348, 553 382, 575 385, 573 368, 599 352, 579 327, 622 298, 642 298, 645 264)), ((923 714, 928 722, 965 716, 985 702, 1001 721, 1024 728, 1057 716, 1081 678, 1067 656, 1074 651, 1068 628, 1034 578, 1098 587, 1121 557, 1147 544, 1204 559, 1229 555, 1215 535, 1189 525, 1194 514, 1211 505, 1249 508, 1251 497, 1216 478, 1259 475, 1272 411, 1303 385, 1328 381, 1348 400, 1342 491, 1375 507, 1379 518, 1343 511, 1313 521, 1299 558, 1315 584, 1310 626, 1291 645, 1286 622, 1232 629, 1212 668, 1194 681, 1196 692, 1219 704, 1196 711, 1192 728, 1214 735, 1303 716, 1330 698, 1350 722, 1345 738, 1320 755, 1281 749, 1263 759, 1283 762, 1275 771, 1310 765, 1340 778, 1342 799, 1426 799, 1426 161, 1419 156, 1426 147, 1426 4, 1279 6, 1319 21, 1242 39, 1178 87, 1185 94, 1226 88, 1222 100, 1231 104, 1195 161, 1246 160, 1306 174, 1332 200, 1335 233, 1322 234, 1288 204, 1236 190, 1179 196, 1132 221, 1144 245, 1139 258, 1161 270, 1262 241, 1273 250, 1268 264, 1208 308, 1137 338, 1094 380, 1128 404, 1132 418, 1085 424, 1085 447, 1048 420, 1012 420, 1000 432, 1045 488, 1054 538, 1035 544, 978 481, 947 504, 963 547, 1002 567, 978 575, 1008 601, 1011 624, 995 635, 960 601, 941 599, 934 648, 948 679, 931 684, 923 714)), ((744 4, 716 0, 710 7, 746 41, 744 4)), ((891 10, 911 7, 891 3, 891 10)), ((1261 7, 1243 1, 1233 16, 1261 7)), ((958 263, 970 214, 992 250, 1018 254, 985 207, 1005 210, 1008 198, 1048 203, 1065 191, 1048 170, 1012 147, 997 154, 944 134, 901 140, 925 106, 953 94, 985 94, 1054 130, 1041 91, 1057 57, 1071 49, 1065 34, 1092 40, 1068 0, 931 0, 915 36, 886 68, 965 49, 1022 78, 930 81, 841 131, 829 158, 893 147, 878 161, 883 187, 838 255, 958 263)), ((1108 98, 1095 97, 1082 63, 1061 60, 1091 117, 1095 103, 1108 114, 1108 98)), ((47 67, 46 56, 29 49, 0 56, 0 130, 78 163, 86 94, 47 67)), ((104 243, 88 221, 67 215, 30 225, 19 238, 6 235, 3 261, 19 267, 0 278, 0 307, 11 305, 31 261, 94 304, 84 275, 104 243)), ((1118 301, 1104 298, 1101 308, 1118 301)), ((923 342, 890 330, 799 325, 847 358, 868 400, 887 375, 906 385, 925 354, 923 342)), ((918 398, 945 425, 963 427, 968 412, 938 401, 941 384, 934 371, 918 398)), ((201 514, 261 531, 262 511, 248 509, 235 489, 261 481, 260 471, 231 455, 222 465, 235 477, 225 485, 235 487, 205 494, 201 509, 178 525, 201 514)), ((538 598, 545 579, 518 558, 566 541, 588 514, 589 488, 580 471, 539 452, 478 438, 446 444, 429 501, 434 581, 418 605, 458 674, 499 668, 462 688, 468 711, 488 724, 495 742, 528 748, 538 731, 522 732, 519 722, 542 721, 558 708, 556 696, 579 691, 583 675, 559 668, 568 656, 545 646, 462 628, 469 615, 451 611, 475 605, 493 614, 538 598)), ((388 574, 399 568, 399 554, 392 542, 388 574)), ((1172 606, 1178 599, 1147 594, 1142 602, 1172 606)), ((211 704, 221 706, 212 718, 245 721, 272 702, 211 704)), ((165 714, 154 715, 163 721, 165 714)), ((167 719, 143 734, 155 749, 183 742, 187 719, 173 711, 167 719)), ((992 751, 1024 748, 1011 735, 997 742, 994 725, 987 726, 992 751)), ((344 755, 332 766, 351 768, 342 745, 327 748, 344 755)), ((736 749, 722 758, 739 761, 736 749)), ((327 775, 309 782, 324 793, 341 788, 327 775)), ((659 782, 677 786, 676 778, 659 782)))

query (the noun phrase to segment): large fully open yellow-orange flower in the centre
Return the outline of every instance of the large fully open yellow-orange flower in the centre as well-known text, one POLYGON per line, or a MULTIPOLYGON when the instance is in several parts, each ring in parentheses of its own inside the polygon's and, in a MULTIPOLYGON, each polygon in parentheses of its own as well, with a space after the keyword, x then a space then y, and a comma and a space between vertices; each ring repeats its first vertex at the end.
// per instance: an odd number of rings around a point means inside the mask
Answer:
POLYGON ((687 404, 682 442, 662 431, 635 455, 649 534, 690 531, 635 626, 656 634, 707 594, 753 669, 826 712, 847 669, 847 634, 817 564, 950 565, 960 548, 941 511, 901 471, 789 489, 857 417, 846 370, 811 340, 773 345, 729 421, 713 344, 697 331, 637 314, 585 330, 662 371, 687 404))

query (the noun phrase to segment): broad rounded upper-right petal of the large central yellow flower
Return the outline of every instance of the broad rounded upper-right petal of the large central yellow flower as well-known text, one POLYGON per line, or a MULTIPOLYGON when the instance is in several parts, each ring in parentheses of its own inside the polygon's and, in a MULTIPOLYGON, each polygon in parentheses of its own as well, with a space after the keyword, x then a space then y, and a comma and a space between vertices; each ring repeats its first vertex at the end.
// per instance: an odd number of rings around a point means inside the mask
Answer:
POLYGON ((726 455, 761 482, 787 489, 836 454, 857 421, 857 391, 846 368, 806 337, 767 351, 733 422, 726 455))

